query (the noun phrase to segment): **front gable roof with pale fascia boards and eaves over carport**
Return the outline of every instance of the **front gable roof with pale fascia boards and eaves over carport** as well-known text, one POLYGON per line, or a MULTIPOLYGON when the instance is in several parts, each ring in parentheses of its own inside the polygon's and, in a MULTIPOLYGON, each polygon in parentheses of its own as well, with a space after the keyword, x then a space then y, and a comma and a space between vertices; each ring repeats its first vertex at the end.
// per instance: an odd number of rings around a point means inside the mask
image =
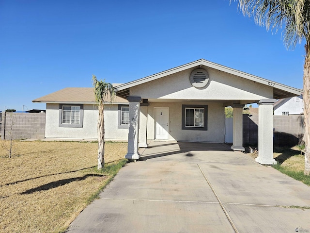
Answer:
POLYGON ((163 72, 157 73, 157 74, 153 74, 150 76, 147 76, 145 78, 141 78, 129 83, 124 83, 121 85, 118 85, 115 87, 116 91, 117 91, 117 95, 121 96, 121 97, 127 97, 129 96, 129 88, 133 87, 133 86, 137 86, 140 85, 142 83, 147 83, 186 69, 190 69, 193 67, 201 67, 201 66, 205 66, 205 67, 210 67, 210 68, 214 68, 217 69, 219 71, 223 71, 232 75, 236 75, 238 77, 242 77, 244 79, 256 82, 256 83, 262 83, 264 85, 267 86, 271 86, 273 87, 273 92, 274 92, 274 98, 275 99, 282 99, 282 98, 287 98, 287 97, 293 97, 293 96, 299 96, 302 93, 302 90, 291 87, 291 86, 287 86, 281 83, 276 83, 267 79, 263 79, 261 77, 258 76, 254 76, 230 67, 225 67, 213 62, 209 62, 207 60, 204 59, 200 59, 191 63, 187 63, 185 65, 179 66, 179 67, 174 67, 171 68, 169 70, 165 70, 163 72))

